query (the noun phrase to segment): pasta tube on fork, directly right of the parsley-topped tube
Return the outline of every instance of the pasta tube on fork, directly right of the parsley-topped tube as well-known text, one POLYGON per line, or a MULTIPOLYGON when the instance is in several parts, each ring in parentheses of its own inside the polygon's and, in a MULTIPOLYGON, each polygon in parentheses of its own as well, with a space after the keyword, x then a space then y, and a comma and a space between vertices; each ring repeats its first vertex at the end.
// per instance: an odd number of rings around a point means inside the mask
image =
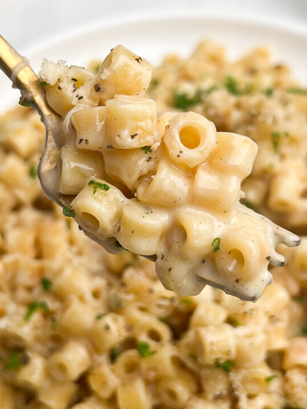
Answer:
POLYGON ((169 223, 170 216, 164 209, 130 199, 123 207, 118 240, 130 252, 150 256, 159 251, 169 223))

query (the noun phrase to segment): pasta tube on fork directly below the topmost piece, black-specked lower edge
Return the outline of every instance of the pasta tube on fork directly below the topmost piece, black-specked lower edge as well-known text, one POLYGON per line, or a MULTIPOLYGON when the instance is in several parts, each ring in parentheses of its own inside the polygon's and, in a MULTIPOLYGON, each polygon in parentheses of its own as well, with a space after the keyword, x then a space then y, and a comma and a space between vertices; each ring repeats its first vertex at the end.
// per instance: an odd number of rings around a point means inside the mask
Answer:
POLYGON ((105 147, 136 149, 161 141, 155 101, 115 98, 108 100, 105 106, 105 147))

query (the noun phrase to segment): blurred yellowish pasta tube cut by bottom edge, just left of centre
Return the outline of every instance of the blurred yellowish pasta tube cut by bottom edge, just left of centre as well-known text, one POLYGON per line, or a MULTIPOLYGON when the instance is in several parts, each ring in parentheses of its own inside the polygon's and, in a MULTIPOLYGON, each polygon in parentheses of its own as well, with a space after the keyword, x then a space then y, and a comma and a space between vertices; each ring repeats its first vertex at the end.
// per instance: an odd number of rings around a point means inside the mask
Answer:
POLYGON ((117 391, 119 409, 151 409, 151 395, 142 378, 122 382, 117 391))

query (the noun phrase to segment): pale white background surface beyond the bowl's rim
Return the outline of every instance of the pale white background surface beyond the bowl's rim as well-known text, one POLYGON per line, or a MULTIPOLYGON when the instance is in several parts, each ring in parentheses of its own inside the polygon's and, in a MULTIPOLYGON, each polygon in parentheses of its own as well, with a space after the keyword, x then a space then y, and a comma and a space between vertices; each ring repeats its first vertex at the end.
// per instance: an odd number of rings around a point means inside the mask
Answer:
POLYGON ((260 17, 307 27, 307 0, 0 0, 0 34, 19 52, 118 17, 163 12, 260 17))

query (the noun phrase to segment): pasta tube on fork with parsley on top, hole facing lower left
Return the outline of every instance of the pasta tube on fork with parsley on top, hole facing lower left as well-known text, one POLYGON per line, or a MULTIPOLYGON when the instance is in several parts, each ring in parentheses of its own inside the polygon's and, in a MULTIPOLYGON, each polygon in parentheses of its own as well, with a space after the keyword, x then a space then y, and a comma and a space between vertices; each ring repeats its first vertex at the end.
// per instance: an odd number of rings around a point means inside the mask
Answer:
POLYGON ((87 185, 72 202, 76 220, 84 230, 101 237, 114 236, 119 223, 125 196, 122 192, 101 179, 97 184, 87 185), (100 185, 100 186, 99 186, 100 185))

